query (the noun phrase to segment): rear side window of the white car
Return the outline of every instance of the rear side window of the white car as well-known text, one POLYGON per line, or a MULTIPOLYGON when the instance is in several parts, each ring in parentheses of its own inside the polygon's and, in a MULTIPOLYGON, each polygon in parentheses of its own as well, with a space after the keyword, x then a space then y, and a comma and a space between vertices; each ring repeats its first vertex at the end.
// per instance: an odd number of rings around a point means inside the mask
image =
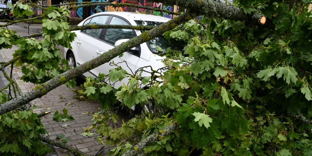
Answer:
MULTIPOLYGON (((105 24, 106 21, 110 18, 110 16, 95 16, 91 19, 89 24, 96 25, 96 24, 105 24)), ((91 29, 86 30, 85 33, 91 35, 96 38, 100 38, 102 29, 91 29)))

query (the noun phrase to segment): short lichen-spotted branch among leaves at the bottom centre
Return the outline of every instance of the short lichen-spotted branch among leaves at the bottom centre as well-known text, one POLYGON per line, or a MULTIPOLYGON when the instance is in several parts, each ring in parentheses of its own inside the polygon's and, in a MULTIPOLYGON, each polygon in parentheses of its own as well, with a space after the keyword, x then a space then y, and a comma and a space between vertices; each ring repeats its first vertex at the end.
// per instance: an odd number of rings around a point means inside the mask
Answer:
POLYGON ((145 139, 140 141, 138 144, 131 147, 131 149, 129 149, 129 151, 124 153, 122 156, 138 155, 146 146, 154 143, 155 141, 162 140, 164 137, 166 137, 168 134, 172 133, 178 127, 179 127, 178 123, 174 122, 173 124, 166 127, 165 129, 159 130, 158 132, 155 132, 155 133, 149 135, 148 137, 146 137, 145 139))

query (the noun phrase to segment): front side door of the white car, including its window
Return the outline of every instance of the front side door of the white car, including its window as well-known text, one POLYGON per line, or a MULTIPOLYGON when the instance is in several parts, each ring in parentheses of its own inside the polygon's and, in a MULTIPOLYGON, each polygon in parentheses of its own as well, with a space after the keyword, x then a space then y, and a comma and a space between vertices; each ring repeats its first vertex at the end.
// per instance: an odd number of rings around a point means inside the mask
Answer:
MULTIPOLYGON (((121 17, 112 16, 110 19, 109 24, 116 24, 116 25, 129 25, 129 23, 122 19, 121 17)), ((106 29, 105 30, 105 36, 104 36, 104 42, 108 45, 103 47, 97 48, 97 54, 100 55, 104 52, 109 51, 110 49, 115 47, 115 43, 118 40, 121 39, 131 39, 135 37, 135 32, 132 29, 106 29)), ((125 52, 123 56, 115 57, 110 62, 114 61, 118 66, 121 66, 124 70, 126 70, 128 73, 132 73, 135 70, 135 66, 139 61, 139 47, 136 48, 135 51, 129 51, 125 52), (123 62, 126 61, 127 63, 123 62), (122 62, 122 63, 121 63, 122 62), (128 66, 127 66, 128 65, 128 66)), ((115 68, 115 66, 111 66, 110 62, 107 62, 97 68, 95 68, 95 74, 103 73, 108 74, 110 69, 115 68)), ((121 82, 116 82, 114 87, 119 88, 122 86, 122 84, 125 83, 125 85, 128 84, 128 79, 124 78, 121 82)))

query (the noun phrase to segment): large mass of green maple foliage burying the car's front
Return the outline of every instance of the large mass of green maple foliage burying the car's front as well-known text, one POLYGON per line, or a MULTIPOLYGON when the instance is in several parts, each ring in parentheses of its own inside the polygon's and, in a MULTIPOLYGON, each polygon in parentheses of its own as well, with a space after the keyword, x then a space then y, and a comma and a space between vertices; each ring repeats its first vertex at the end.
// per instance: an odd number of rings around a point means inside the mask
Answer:
POLYGON ((117 66, 105 79, 127 76, 128 85, 118 90, 94 85, 100 76, 88 78, 84 85, 94 87, 88 97, 100 90, 115 92, 122 106, 149 110, 121 125, 112 109, 93 115, 97 141, 118 144, 109 154, 123 154, 139 141, 133 136, 144 139, 174 120, 178 129, 141 152, 188 155, 195 147, 202 155, 312 154, 311 126, 297 118, 312 117, 308 4, 300 2, 290 10, 288 1, 278 0, 237 0, 234 5, 246 13, 263 13, 267 24, 191 20, 164 34, 185 46, 183 52, 171 53, 157 48, 166 57, 164 68, 144 67, 133 75, 117 66))

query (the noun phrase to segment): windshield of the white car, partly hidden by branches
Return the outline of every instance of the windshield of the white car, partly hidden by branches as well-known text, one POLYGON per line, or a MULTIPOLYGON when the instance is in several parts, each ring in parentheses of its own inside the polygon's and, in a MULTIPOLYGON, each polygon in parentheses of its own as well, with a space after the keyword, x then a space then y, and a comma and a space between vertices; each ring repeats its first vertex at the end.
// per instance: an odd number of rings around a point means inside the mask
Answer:
MULTIPOLYGON (((163 22, 154 22, 154 21, 135 21, 135 23, 138 26, 159 26, 161 25, 163 22)), ((178 48, 177 46, 174 46, 172 44, 169 43, 168 40, 166 40, 163 37, 155 37, 153 38, 151 41, 147 41, 146 42, 147 45, 149 46, 149 49, 152 52, 157 52, 156 51, 156 47, 161 47, 163 50, 166 50, 167 48, 171 48, 173 50, 181 50, 181 48, 178 48)))

